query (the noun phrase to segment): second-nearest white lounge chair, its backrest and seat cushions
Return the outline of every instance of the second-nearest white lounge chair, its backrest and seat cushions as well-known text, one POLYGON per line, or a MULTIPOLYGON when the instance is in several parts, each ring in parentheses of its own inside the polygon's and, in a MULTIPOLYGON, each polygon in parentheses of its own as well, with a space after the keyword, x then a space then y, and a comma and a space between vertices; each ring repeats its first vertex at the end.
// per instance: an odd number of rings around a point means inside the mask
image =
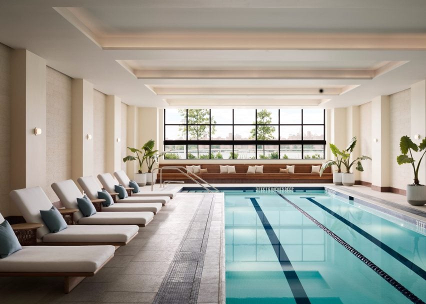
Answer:
MULTIPOLYGON (((10 192, 26 222, 43 223, 40 210, 48 210, 52 203, 40 187, 10 192)), ((99 212, 102 213, 102 212, 99 212)), ((125 245, 137 235, 137 225, 68 225, 52 233, 44 225, 37 229, 37 238, 47 245, 125 245)))

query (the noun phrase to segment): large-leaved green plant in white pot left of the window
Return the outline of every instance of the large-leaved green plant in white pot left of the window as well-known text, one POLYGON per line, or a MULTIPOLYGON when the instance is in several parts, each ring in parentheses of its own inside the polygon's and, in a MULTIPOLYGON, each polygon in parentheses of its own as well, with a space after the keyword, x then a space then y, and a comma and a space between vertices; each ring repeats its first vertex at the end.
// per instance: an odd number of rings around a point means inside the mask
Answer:
POLYGON ((127 155, 123 158, 124 162, 129 160, 138 161, 138 170, 137 173, 134 173, 134 181, 136 181, 140 186, 147 184, 147 180, 150 181, 151 177, 151 174, 142 172, 143 162, 146 163, 148 173, 151 173, 154 163, 158 162, 158 157, 164 154, 164 152, 158 153, 158 150, 153 150, 154 144, 155 141, 150 139, 140 149, 128 146, 127 148, 133 153, 133 155, 127 155))

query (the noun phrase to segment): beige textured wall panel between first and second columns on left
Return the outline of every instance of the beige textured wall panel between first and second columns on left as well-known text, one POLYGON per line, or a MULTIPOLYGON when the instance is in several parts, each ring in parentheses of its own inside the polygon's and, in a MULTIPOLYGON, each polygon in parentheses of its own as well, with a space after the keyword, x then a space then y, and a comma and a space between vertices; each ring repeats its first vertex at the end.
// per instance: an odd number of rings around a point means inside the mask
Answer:
POLYGON ((58 201, 50 185, 71 178, 72 78, 46 67, 46 186, 51 201, 58 201))

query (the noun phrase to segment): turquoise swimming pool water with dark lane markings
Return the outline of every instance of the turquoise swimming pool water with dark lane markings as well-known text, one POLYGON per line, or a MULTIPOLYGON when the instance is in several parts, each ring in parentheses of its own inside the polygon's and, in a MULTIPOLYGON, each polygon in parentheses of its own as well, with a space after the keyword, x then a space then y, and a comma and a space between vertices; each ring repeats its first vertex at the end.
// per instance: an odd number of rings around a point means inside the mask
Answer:
POLYGON ((225 191, 226 303, 426 301, 426 236, 361 207, 323 190, 225 191))

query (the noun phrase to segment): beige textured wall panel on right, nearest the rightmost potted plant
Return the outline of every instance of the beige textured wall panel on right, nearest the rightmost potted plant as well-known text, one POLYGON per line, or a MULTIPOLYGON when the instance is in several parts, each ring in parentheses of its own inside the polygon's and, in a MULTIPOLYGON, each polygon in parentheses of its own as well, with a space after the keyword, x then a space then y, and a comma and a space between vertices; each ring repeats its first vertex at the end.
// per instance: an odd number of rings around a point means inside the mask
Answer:
POLYGON ((410 135, 410 90, 406 89, 389 95, 390 102, 390 186, 405 189, 412 181, 412 167, 398 165, 396 156, 400 154, 399 139, 410 135))

